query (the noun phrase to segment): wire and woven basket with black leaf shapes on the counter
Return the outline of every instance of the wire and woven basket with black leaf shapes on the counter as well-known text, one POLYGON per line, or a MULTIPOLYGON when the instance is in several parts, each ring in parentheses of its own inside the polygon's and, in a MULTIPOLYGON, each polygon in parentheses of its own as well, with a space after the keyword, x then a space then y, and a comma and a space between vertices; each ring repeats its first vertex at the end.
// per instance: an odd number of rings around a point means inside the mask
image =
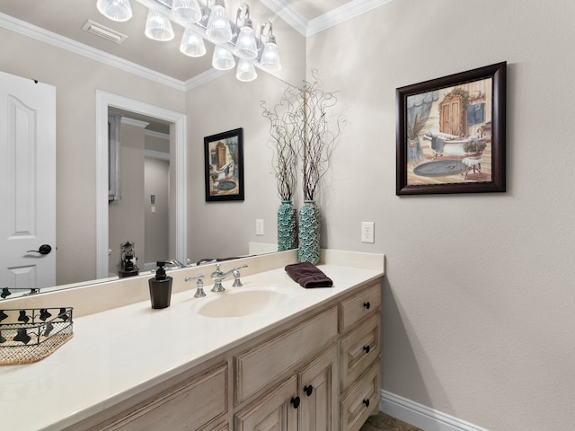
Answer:
POLYGON ((40 361, 74 336, 72 307, 0 310, 0 365, 40 361))

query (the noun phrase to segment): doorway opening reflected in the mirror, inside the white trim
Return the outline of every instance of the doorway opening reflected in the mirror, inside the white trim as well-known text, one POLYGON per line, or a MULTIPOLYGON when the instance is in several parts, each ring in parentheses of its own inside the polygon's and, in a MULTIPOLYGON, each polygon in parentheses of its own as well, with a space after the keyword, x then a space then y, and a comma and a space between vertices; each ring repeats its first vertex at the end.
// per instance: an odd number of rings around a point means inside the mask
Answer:
POLYGON ((110 178, 119 184, 109 197, 109 270, 111 277, 129 277, 175 256, 169 241, 171 123, 128 110, 109 109, 109 118, 110 135, 118 140, 110 145, 109 166, 116 171, 110 178))

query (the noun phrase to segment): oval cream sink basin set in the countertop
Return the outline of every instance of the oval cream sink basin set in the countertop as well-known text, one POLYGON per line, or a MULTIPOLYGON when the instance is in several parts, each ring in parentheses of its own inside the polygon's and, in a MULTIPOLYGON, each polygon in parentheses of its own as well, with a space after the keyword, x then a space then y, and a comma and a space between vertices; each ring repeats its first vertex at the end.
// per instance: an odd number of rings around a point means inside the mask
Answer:
POLYGON ((290 289, 280 286, 229 287, 201 299, 194 308, 204 317, 245 317, 278 307, 293 295, 290 289))

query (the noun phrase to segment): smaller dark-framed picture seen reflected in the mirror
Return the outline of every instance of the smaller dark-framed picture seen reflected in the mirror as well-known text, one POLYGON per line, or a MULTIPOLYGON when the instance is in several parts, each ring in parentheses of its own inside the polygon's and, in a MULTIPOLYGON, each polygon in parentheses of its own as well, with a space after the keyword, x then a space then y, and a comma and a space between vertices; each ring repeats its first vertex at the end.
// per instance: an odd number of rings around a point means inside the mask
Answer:
POLYGON ((243 200, 243 128, 204 137, 206 201, 243 200))

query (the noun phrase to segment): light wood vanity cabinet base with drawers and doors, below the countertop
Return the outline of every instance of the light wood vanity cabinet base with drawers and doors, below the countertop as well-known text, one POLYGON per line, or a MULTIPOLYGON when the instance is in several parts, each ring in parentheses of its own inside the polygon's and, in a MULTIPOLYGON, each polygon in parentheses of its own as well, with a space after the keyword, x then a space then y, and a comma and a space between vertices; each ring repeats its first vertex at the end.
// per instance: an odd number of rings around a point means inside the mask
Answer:
POLYGON ((75 429, 357 431, 379 400, 380 289, 358 286, 75 429))

